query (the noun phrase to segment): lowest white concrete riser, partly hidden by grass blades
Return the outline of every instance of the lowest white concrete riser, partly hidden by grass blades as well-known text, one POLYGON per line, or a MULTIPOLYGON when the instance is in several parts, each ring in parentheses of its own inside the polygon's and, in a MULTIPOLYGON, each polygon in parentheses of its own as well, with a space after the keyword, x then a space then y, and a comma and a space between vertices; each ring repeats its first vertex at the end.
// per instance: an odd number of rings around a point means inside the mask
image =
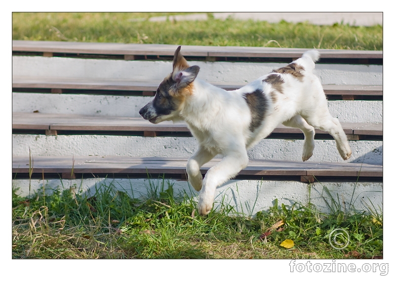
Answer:
MULTIPOLYGON (((167 186, 165 179, 165 187, 167 186)), ((86 195, 94 195, 96 189, 113 187, 115 190, 127 192, 131 197, 144 198, 149 191, 149 181, 156 187, 160 187, 162 180, 149 179, 47 179, 31 181, 31 193, 38 191, 45 185, 46 193, 51 189, 67 189, 70 185, 76 185, 86 195)), ((188 185, 187 181, 169 180, 173 184, 174 194, 192 196, 197 201, 197 192, 188 185)), ((19 187, 18 193, 26 197, 29 195, 29 180, 13 180, 14 187, 19 187)), ((300 203, 307 205, 312 203, 320 212, 330 212, 330 207, 325 203, 331 203, 330 196, 324 191, 326 186, 334 199, 341 199, 342 209, 353 206, 356 210, 369 212, 383 210, 383 183, 354 183, 354 182, 328 182, 328 183, 302 183, 298 181, 271 181, 271 180, 230 180, 217 188, 214 208, 221 208, 221 202, 234 207, 236 212, 245 215, 255 215, 256 212, 268 210, 273 206, 273 201, 278 200, 278 205, 293 205, 300 203), (355 187, 355 191, 354 191, 355 187), (354 192, 354 197, 352 196, 354 192), (310 199, 309 199, 310 195, 310 199)), ((159 188, 160 189, 160 188, 159 188)), ((333 207, 336 207, 334 204, 333 207)))

